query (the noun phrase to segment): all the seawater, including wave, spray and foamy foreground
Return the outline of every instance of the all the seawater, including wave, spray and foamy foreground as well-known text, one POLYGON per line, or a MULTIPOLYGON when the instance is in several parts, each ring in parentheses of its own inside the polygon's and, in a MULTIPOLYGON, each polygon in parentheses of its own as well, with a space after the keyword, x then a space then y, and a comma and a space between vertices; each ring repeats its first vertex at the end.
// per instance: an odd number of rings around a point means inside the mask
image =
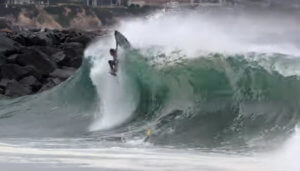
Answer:
POLYGON ((0 100, 5 170, 299 170, 298 15, 231 8, 124 19, 81 68, 0 100), (144 142, 146 131, 150 138, 144 142))

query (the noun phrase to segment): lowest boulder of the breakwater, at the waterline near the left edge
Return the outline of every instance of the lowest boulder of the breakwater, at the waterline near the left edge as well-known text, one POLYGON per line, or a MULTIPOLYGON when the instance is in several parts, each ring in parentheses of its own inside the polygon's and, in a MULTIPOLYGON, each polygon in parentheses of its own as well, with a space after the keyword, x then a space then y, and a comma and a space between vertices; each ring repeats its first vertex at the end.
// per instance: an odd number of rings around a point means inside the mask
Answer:
POLYGON ((31 90, 28 87, 23 86, 16 80, 12 80, 7 84, 5 89, 5 95, 9 97, 19 97, 31 94, 31 90))

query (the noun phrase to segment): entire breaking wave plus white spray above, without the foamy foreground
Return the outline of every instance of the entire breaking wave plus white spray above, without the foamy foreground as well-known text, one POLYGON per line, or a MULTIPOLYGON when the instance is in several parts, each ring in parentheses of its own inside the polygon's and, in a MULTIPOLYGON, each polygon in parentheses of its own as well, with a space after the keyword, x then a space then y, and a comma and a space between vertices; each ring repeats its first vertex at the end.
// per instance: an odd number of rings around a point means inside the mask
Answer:
POLYGON ((286 140, 299 122, 299 50, 273 18, 246 35, 253 20, 262 19, 233 16, 158 13, 121 23, 135 48, 119 52, 117 77, 107 64, 113 38, 102 37, 62 85, 1 100, 1 136, 130 141, 151 129, 149 142, 167 146, 286 140))

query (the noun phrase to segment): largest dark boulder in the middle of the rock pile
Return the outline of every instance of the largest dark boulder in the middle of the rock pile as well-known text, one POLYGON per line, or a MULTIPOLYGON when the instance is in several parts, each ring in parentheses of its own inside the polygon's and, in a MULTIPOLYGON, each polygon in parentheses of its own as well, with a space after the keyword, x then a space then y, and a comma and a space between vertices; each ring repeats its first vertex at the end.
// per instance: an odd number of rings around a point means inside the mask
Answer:
POLYGON ((33 66, 41 74, 50 74, 57 67, 44 53, 34 49, 29 49, 16 58, 18 64, 23 66, 33 66))

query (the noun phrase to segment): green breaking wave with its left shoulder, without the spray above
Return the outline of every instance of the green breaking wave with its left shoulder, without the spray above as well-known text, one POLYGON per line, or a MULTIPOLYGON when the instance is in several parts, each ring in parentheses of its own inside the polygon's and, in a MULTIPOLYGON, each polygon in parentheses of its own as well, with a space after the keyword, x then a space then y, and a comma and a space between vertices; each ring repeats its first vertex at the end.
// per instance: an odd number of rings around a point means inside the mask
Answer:
POLYGON ((85 59, 72 78, 48 92, 2 99, 0 134, 130 140, 151 129, 153 144, 213 147, 278 142, 293 133, 300 81, 271 66, 295 58, 171 55, 124 52, 118 77, 107 72, 106 60, 99 71, 97 60, 85 59))

